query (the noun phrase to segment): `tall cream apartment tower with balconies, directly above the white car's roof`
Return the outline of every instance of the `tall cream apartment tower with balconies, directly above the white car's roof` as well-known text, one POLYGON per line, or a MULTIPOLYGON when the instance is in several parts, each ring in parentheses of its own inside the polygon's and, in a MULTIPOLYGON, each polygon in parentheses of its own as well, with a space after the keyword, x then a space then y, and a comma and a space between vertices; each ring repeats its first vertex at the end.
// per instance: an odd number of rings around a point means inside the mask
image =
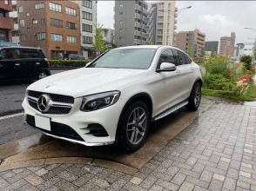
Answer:
POLYGON ((157 8, 157 43, 159 45, 176 46, 177 23, 176 17, 178 8, 175 8, 175 1, 158 1, 153 2, 152 6, 157 8))

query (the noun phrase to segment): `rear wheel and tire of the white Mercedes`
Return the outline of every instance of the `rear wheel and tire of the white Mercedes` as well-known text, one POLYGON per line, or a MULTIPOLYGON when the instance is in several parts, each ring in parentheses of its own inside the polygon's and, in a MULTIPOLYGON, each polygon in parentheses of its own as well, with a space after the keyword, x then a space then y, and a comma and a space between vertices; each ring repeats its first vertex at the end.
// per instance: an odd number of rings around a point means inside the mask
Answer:
POLYGON ((196 82, 192 88, 191 95, 188 99, 188 104, 185 106, 186 109, 195 111, 199 109, 201 102, 201 85, 196 82))

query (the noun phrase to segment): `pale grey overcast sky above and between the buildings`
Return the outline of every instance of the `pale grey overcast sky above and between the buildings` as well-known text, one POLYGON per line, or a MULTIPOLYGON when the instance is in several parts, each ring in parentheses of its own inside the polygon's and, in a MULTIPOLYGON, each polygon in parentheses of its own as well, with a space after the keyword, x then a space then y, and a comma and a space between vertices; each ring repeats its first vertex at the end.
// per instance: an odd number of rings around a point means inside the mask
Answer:
MULTIPOLYGON (((150 3, 151 1, 147 1, 150 3)), ((114 1, 98 1, 98 23, 113 29, 114 1)), ((255 1, 176 1, 179 9, 192 6, 179 13, 177 32, 198 28, 205 33, 206 41, 220 41, 221 36, 236 33, 235 43, 253 43, 256 32, 255 1), (253 38, 253 39, 248 39, 253 38)), ((246 46, 250 49, 252 46, 246 46)), ((245 51, 246 54, 252 51, 245 51)))

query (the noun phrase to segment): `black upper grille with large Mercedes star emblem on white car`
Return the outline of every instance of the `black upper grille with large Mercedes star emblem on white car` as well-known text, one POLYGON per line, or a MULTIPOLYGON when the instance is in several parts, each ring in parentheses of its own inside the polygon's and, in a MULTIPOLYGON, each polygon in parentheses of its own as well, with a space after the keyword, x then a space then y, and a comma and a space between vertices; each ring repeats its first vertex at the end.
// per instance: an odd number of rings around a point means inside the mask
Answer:
MULTIPOLYGON (((63 103, 71 103, 71 104, 74 103, 74 98, 69 95, 49 94, 49 93, 31 91, 31 90, 29 91, 28 95, 38 99, 43 94, 49 95, 53 102, 63 102, 63 103)), ((28 102, 33 109, 40 111, 37 107, 37 102, 32 102, 30 100, 28 100, 28 102)), ((65 114, 69 114, 71 112, 71 109, 72 108, 70 108, 70 107, 64 107, 64 106, 62 106, 62 107, 51 106, 51 108, 48 111, 43 112, 43 113, 44 114, 52 114, 52 115, 65 115, 65 114)))

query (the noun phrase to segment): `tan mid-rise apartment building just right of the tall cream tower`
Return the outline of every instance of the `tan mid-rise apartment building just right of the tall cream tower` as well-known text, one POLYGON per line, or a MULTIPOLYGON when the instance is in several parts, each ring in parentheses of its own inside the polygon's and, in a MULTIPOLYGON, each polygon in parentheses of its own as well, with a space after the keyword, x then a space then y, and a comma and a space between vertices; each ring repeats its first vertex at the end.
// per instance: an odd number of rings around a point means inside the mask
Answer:
POLYGON ((200 56, 201 50, 205 48, 205 33, 196 29, 192 31, 180 31, 177 36, 177 48, 188 53, 188 48, 191 46, 192 57, 200 56))

